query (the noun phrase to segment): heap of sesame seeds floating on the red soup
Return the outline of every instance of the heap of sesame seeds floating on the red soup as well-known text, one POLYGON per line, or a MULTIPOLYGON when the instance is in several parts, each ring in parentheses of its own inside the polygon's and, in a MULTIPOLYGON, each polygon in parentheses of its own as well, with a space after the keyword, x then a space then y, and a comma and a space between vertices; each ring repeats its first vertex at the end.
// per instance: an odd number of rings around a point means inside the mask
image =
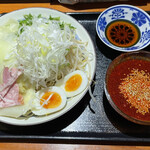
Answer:
POLYGON ((137 109, 137 113, 145 115, 150 109, 150 74, 147 71, 132 69, 119 85, 120 93, 123 94, 131 107, 137 109))

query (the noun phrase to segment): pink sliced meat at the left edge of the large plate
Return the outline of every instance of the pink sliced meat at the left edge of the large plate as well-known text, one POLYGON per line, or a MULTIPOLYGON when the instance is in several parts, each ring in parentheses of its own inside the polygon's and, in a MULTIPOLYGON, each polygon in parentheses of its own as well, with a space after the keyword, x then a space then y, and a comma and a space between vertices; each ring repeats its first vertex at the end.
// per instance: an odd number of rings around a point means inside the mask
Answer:
POLYGON ((19 94, 19 85, 16 80, 21 71, 5 67, 3 70, 3 83, 0 85, 0 108, 21 105, 23 97, 19 94))

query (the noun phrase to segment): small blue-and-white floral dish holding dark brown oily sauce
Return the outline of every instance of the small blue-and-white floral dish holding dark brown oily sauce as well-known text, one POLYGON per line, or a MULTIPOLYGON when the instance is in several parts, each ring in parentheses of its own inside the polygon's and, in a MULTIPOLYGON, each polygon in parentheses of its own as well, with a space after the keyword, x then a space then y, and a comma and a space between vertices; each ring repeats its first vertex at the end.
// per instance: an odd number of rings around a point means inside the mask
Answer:
POLYGON ((115 5, 103 11, 96 22, 99 38, 112 49, 131 52, 150 44, 150 16, 132 5, 115 5))

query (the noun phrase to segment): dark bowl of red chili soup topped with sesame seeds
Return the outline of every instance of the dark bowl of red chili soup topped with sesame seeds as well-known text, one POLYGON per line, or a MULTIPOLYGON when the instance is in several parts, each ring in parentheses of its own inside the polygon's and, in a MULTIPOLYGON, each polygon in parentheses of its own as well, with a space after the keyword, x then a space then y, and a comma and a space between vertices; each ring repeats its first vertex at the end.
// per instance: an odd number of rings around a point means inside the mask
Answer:
POLYGON ((134 123, 150 125, 150 52, 116 57, 107 69, 104 90, 120 115, 134 123))

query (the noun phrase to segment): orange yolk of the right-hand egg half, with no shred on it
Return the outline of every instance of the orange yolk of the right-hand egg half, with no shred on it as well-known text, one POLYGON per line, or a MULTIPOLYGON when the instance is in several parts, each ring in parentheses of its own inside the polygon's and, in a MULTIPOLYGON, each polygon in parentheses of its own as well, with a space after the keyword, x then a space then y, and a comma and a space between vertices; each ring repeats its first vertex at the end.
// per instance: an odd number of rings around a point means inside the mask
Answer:
POLYGON ((65 85, 65 90, 68 92, 76 91, 82 83, 82 77, 79 74, 73 75, 69 78, 65 85))

